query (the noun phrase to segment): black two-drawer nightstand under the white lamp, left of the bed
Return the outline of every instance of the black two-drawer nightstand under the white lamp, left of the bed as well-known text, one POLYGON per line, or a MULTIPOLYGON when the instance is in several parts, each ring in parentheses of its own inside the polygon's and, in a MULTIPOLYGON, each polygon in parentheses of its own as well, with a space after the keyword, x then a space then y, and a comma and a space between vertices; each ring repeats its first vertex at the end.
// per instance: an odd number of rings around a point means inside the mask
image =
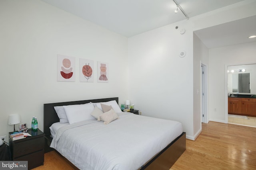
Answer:
MULTIPOLYGON (((12 134, 13 132, 10 132, 12 134)), ((12 153, 12 160, 27 160, 28 169, 44 165, 44 133, 39 129, 37 131, 28 130, 32 136, 24 139, 12 141, 9 139, 9 145, 12 153)))

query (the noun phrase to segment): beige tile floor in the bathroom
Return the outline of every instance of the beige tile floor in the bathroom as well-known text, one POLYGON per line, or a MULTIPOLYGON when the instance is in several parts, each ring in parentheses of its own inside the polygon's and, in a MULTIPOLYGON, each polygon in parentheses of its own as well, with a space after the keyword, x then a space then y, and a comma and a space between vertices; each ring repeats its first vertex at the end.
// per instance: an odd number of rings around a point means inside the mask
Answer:
POLYGON ((228 123, 256 127, 256 117, 228 114, 228 123))

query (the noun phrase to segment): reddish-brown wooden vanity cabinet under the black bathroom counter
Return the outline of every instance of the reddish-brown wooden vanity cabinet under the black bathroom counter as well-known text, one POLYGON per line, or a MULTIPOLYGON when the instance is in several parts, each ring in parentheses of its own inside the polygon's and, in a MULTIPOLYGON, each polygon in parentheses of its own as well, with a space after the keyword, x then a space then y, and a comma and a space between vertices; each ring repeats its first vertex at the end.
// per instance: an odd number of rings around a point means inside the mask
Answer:
POLYGON ((256 98, 228 98, 228 113, 256 117, 256 98))

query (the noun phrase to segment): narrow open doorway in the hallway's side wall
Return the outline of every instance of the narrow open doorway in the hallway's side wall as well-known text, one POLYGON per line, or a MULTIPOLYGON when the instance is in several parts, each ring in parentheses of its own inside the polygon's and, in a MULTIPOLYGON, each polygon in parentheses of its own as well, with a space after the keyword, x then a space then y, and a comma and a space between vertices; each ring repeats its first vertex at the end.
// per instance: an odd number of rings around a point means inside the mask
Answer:
POLYGON ((204 64, 201 64, 201 122, 202 123, 208 123, 207 121, 207 102, 206 102, 206 99, 207 99, 207 90, 206 90, 206 87, 207 87, 207 84, 206 84, 206 65, 204 64))

